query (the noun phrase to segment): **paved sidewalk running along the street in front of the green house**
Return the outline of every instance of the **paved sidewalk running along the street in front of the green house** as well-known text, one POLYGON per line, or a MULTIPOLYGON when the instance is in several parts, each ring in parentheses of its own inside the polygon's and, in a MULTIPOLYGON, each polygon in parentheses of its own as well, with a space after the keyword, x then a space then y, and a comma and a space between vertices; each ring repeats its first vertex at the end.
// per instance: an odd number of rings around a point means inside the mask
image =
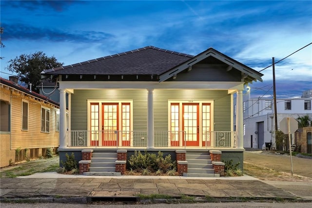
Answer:
POLYGON ((87 203, 90 199, 165 195, 201 200, 298 200, 312 202, 312 182, 260 181, 251 176, 83 176, 56 172, 0 179, 1 200, 87 203))

